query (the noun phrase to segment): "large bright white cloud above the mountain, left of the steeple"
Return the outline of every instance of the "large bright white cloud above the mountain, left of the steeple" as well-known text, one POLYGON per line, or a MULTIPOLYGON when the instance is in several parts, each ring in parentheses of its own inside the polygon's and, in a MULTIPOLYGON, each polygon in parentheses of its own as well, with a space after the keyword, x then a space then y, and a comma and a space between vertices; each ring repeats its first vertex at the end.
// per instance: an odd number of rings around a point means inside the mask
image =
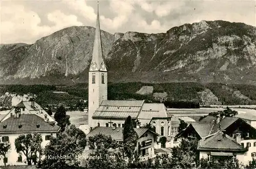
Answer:
POLYGON ((69 26, 82 25, 75 15, 66 15, 59 10, 47 14, 53 26, 42 25, 38 14, 26 10, 22 5, 2 6, 2 25, 0 28, 1 43, 34 43, 42 36, 69 26))

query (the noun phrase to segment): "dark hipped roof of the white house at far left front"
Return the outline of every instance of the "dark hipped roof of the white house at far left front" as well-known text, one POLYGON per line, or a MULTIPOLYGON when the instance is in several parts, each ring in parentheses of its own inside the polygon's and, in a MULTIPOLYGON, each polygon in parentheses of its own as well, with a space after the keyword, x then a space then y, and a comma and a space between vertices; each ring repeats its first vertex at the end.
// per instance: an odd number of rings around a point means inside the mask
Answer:
POLYGON ((34 114, 20 115, 19 118, 14 116, 0 123, 0 133, 16 133, 16 132, 58 132, 59 126, 52 126, 44 119, 34 114), (37 124, 39 127, 37 128, 37 124), (6 125, 6 128, 4 128, 6 125), (21 128, 18 126, 22 125, 21 128))

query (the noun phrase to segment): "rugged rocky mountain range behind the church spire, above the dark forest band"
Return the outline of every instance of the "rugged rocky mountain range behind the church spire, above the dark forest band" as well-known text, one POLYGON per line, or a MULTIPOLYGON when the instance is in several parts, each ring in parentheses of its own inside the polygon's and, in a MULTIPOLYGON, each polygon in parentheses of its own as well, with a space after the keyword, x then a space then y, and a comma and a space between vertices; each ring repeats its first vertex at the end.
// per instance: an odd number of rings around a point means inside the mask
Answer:
MULTIPOLYGON (((70 27, 32 45, 0 46, 2 83, 86 82, 93 27, 70 27)), ((256 84, 256 28, 201 21, 166 33, 101 31, 112 82, 221 82, 256 84)))

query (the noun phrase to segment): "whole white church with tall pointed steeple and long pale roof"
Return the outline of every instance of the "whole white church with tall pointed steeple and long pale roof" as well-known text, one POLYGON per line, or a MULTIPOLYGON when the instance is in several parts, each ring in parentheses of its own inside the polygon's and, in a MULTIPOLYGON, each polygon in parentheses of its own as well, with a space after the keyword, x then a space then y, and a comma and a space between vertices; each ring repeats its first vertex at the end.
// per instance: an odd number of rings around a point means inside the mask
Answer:
MULTIPOLYGON (((170 138, 171 122, 162 103, 145 103, 144 100, 108 100, 108 70, 102 53, 99 8, 97 11, 92 62, 89 69, 88 127, 123 127, 131 116, 137 127, 151 124, 154 132, 170 138)), ((86 133, 87 134, 87 133, 86 133)))

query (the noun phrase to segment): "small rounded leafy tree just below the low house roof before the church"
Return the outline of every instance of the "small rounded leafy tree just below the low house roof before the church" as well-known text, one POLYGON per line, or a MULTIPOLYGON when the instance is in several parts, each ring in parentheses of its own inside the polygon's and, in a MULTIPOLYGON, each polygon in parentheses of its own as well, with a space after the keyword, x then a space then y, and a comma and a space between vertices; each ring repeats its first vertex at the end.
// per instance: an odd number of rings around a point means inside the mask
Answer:
POLYGON ((113 140, 111 136, 105 136, 101 133, 96 136, 89 137, 88 145, 89 145, 89 149, 95 149, 95 148, 99 149, 100 147, 102 147, 102 145, 106 149, 109 149, 109 148, 115 149, 118 147, 118 143, 115 140, 113 140))

